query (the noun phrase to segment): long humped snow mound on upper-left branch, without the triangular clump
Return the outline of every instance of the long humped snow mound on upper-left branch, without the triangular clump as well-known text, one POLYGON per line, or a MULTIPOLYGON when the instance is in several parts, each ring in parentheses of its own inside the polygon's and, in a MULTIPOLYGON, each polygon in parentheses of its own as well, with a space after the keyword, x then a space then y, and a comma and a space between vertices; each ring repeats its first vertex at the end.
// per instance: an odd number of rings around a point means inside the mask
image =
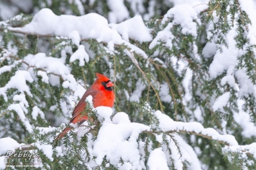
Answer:
MULTIPOLYGON (((50 9, 44 8, 37 12, 32 21, 25 27, 9 29, 65 37, 69 37, 70 33, 76 30, 81 39, 95 38, 104 42, 110 40, 115 43, 121 42, 121 36, 108 27, 108 20, 96 13, 89 13, 83 16, 57 16, 50 9)), ((73 38, 74 36, 71 34, 71 37, 73 38)))

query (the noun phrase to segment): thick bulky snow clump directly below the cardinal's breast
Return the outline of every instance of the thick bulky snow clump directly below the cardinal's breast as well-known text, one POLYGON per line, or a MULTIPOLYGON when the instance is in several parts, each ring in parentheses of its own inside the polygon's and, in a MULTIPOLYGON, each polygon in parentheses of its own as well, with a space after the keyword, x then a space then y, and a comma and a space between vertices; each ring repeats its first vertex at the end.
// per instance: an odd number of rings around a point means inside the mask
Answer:
MULTIPOLYGON (((127 119, 125 114, 122 114, 122 117, 127 119)), ((139 133, 149 130, 149 127, 137 123, 124 123, 120 120, 119 123, 105 122, 102 125, 92 152, 97 157, 96 164, 101 164, 103 157, 106 156, 111 164, 118 165, 122 158, 124 161, 130 161, 133 169, 142 169, 136 140, 139 133)))

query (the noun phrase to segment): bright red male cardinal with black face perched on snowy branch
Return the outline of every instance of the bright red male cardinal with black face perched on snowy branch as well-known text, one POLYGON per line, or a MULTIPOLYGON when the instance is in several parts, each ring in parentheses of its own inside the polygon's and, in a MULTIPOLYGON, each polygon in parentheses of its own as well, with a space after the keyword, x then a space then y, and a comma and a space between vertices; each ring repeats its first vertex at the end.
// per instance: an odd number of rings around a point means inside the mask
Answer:
MULTIPOLYGON (((86 98, 89 95, 92 95, 93 97, 94 108, 98 106, 113 107, 115 94, 113 92, 112 86, 114 86, 114 84, 110 81, 108 77, 104 75, 96 73, 96 77, 97 79, 95 80, 93 85, 87 89, 87 91, 83 94, 81 100, 76 105, 72 113, 70 123, 82 124, 84 121, 88 120, 88 115, 82 115, 81 113, 86 109, 86 98)), ((62 138, 68 133, 70 129, 70 127, 64 129, 57 138, 62 138)))

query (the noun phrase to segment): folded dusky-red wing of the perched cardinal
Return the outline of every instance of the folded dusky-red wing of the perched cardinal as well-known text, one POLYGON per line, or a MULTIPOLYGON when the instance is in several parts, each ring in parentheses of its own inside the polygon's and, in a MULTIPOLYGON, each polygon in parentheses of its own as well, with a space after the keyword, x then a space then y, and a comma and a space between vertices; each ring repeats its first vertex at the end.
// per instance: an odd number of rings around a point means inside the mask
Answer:
POLYGON ((72 118, 70 120, 70 123, 76 124, 78 122, 81 122, 81 120, 88 120, 88 115, 87 114, 81 114, 85 109, 86 109, 86 98, 89 95, 94 96, 98 93, 98 90, 89 88, 82 96, 81 100, 78 102, 76 105, 73 113, 72 113, 72 118))

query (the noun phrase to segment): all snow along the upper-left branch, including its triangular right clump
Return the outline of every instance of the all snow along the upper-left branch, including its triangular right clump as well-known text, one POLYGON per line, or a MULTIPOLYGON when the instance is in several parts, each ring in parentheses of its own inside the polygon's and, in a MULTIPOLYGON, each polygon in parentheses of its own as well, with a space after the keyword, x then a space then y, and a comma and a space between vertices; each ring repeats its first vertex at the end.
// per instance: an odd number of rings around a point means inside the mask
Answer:
MULTIPOLYGON (((116 25, 109 25, 106 18, 96 13, 90 13, 83 16, 57 16, 50 9, 44 8, 36 13, 32 21, 23 28, 8 27, 7 23, 4 23, 5 22, 3 22, 2 25, 5 25, 7 30, 14 33, 47 37, 69 37, 77 46, 79 45, 79 41, 87 40, 89 38, 96 39, 98 42, 113 42, 116 45, 124 43, 133 51, 142 55, 145 59, 148 58, 146 53, 139 47, 131 44, 129 38, 139 42, 152 40, 150 31, 146 28, 141 16, 135 16, 116 25), (136 25, 133 24, 135 21, 136 25), (120 32, 121 28, 126 29, 120 32), (123 37, 121 37, 119 33, 123 37), (141 35, 142 33, 143 36, 141 35), (138 38, 136 35, 141 36, 138 38)), ((85 60, 87 61, 87 59, 88 58, 86 57, 85 60)))

